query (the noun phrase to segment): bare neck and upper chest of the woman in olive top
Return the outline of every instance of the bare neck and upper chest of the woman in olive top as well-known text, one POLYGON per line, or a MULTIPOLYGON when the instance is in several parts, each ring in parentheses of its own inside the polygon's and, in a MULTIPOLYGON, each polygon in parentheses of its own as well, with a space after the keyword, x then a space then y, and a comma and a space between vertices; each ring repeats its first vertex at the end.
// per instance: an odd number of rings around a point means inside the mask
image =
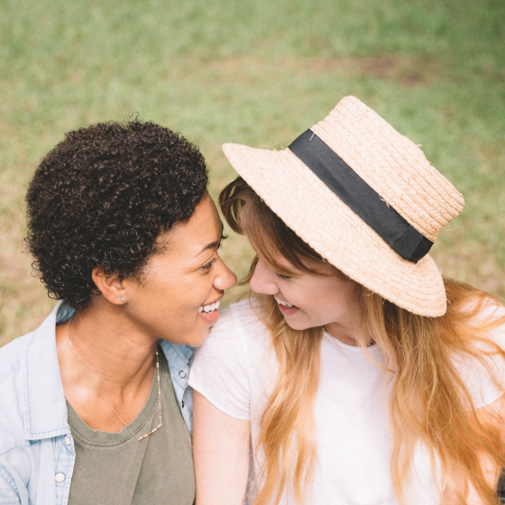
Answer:
POLYGON ((135 328, 115 306, 95 302, 78 310, 70 324, 56 327, 56 344, 65 398, 88 427, 107 432, 124 427, 96 388, 126 424, 137 417, 152 387, 156 338, 135 328))

